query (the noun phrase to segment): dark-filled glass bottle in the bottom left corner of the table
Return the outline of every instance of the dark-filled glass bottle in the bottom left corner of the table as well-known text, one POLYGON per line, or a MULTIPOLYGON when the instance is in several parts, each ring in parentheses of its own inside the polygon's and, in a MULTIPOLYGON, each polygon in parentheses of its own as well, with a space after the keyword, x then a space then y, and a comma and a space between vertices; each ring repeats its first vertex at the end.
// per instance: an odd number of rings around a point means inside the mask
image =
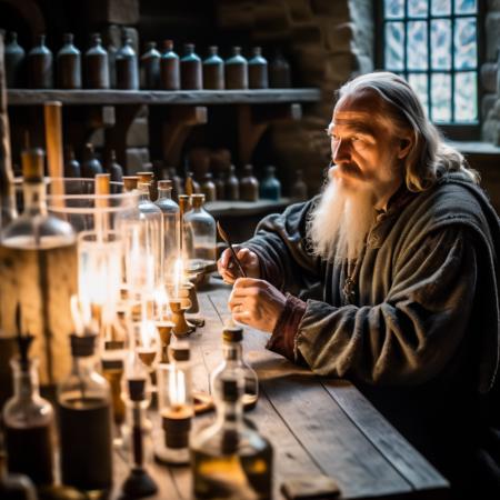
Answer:
POLYGON ((37 359, 12 359, 14 394, 3 408, 9 472, 53 482, 53 409, 40 397, 37 359), (29 451, 28 451, 29 450, 29 451))

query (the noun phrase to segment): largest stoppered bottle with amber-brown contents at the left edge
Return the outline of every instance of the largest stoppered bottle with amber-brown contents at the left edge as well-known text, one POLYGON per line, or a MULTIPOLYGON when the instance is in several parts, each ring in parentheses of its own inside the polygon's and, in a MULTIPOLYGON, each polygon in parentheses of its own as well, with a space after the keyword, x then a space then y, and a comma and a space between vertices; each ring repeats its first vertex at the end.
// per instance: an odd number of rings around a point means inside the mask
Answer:
POLYGON ((44 386, 61 380, 70 366, 77 244, 71 226, 48 213, 43 151, 24 150, 21 159, 23 212, 0 234, 0 318, 4 331, 16 331, 20 304, 23 323, 34 336, 31 353, 40 360, 44 386))

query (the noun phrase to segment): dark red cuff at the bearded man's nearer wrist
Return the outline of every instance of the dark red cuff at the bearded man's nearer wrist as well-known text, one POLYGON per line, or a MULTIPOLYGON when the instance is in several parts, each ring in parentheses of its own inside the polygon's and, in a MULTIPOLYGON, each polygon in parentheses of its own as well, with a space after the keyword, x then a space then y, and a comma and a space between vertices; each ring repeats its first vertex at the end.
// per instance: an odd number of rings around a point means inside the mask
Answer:
POLYGON ((272 330, 271 338, 266 346, 269 350, 284 356, 290 361, 296 361, 294 343, 299 323, 306 313, 306 302, 287 293, 284 309, 272 330))

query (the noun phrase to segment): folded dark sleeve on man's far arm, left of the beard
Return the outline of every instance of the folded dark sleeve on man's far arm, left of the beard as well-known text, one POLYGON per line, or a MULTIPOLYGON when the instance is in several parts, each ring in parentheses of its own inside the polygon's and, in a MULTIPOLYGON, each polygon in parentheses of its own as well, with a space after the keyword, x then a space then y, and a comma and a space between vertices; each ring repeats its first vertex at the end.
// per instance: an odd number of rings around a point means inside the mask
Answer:
POLYGON ((321 262, 308 250, 306 227, 316 199, 266 217, 243 243, 259 257, 261 278, 281 291, 301 296, 319 286, 321 262))

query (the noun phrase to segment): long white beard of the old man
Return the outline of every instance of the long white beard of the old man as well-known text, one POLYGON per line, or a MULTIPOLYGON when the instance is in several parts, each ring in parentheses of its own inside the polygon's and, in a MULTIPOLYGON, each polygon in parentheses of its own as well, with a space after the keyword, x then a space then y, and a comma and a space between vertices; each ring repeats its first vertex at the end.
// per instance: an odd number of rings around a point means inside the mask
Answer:
POLYGON ((354 260, 376 220, 371 191, 329 180, 308 224, 313 254, 324 260, 354 260))

